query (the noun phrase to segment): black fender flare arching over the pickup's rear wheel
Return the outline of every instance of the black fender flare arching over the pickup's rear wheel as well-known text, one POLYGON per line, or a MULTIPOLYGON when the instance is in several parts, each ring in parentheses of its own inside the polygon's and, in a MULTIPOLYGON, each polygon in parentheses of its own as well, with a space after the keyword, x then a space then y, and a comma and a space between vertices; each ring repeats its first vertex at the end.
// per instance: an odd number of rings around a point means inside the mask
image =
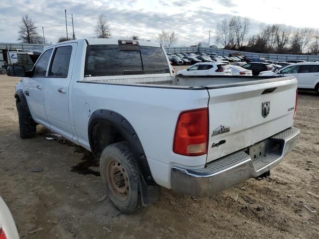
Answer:
POLYGON ((147 185, 157 185, 153 179, 149 163, 147 161, 142 143, 132 124, 122 115, 110 110, 96 110, 89 119, 88 137, 92 153, 96 156, 96 148, 93 142, 93 127, 100 122, 107 122, 114 126, 126 139, 134 154, 136 164, 141 177, 147 185))

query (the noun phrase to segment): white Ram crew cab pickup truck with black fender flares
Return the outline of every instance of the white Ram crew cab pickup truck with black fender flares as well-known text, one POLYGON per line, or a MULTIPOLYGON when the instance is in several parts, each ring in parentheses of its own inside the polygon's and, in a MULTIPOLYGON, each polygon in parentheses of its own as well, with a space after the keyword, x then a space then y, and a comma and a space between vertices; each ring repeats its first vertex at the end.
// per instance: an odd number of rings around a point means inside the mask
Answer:
POLYGON ((204 197, 269 174, 299 138, 295 77, 176 77, 155 42, 67 41, 7 74, 21 138, 42 124, 90 150, 123 213, 160 186, 204 197))

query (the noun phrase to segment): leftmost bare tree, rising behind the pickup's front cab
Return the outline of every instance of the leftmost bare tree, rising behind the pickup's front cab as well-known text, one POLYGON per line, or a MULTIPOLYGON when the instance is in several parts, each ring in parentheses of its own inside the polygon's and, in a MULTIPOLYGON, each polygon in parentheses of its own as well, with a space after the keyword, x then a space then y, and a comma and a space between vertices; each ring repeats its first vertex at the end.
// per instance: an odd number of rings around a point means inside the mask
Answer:
POLYGON ((21 23, 19 27, 19 41, 23 43, 42 43, 42 37, 37 33, 36 26, 34 21, 32 21, 31 17, 27 14, 21 17, 21 23))

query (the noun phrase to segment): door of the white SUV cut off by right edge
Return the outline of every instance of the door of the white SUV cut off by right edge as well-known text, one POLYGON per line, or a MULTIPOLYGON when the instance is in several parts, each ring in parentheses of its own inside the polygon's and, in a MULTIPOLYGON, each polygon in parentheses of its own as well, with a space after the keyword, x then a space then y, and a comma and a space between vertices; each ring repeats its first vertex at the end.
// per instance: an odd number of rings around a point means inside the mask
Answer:
POLYGON ((298 70, 298 88, 315 88, 319 79, 319 65, 301 65, 298 70))

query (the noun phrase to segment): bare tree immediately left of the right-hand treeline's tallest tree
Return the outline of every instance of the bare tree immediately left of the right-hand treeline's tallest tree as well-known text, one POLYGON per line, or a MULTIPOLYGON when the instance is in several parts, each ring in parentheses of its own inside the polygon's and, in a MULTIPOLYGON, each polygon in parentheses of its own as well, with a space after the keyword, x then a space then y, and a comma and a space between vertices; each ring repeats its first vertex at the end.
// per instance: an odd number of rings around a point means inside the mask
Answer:
POLYGON ((224 48, 230 48, 234 45, 235 32, 231 26, 231 21, 227 18, 221 20, 216 26, 216 43, 224 48))

